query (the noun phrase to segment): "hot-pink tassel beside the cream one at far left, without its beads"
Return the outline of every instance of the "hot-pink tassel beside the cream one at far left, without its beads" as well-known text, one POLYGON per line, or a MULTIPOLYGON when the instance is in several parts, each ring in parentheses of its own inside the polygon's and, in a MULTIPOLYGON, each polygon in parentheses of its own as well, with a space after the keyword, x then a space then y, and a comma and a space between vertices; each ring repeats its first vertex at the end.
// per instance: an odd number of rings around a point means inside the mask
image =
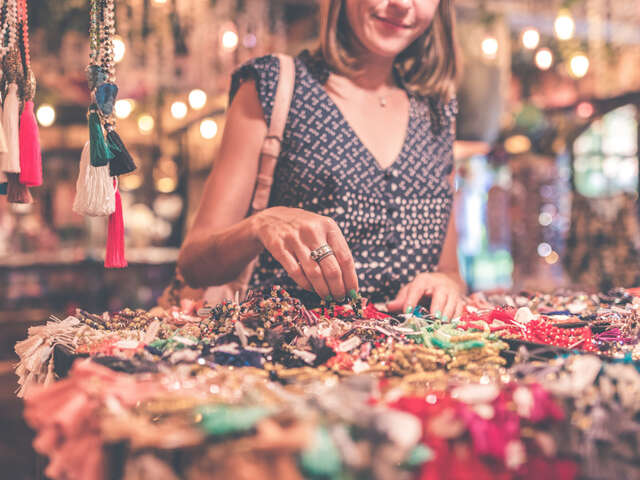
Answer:
POLYGON ((42 185, 42 153, 33 102, 24 102, 20 115, 20 183, 27 187, 42 185))

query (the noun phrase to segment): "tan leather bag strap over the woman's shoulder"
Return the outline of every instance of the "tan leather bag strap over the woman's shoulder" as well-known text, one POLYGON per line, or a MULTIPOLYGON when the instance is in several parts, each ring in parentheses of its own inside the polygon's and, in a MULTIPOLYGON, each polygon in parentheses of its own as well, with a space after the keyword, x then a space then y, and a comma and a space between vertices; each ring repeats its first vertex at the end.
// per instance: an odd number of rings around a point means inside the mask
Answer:
POLYGON ((289 116, 289 107, 291 105, 295 84, 296 71, 293 58, 289 55, 282 54, 276 56, 280 60, 280 75, 273 102, 271 122, 267 136, 262 143, 262 150, 260 151, 258 177, 256 178, 256 188, 251 201, 252 213, 264 210, 269 204, 269 195, 271 195, 271 185, 273 184, 273 172, 276 169, 276 163, 280 155, 282 135, 287 123, 287 117, 289 116))

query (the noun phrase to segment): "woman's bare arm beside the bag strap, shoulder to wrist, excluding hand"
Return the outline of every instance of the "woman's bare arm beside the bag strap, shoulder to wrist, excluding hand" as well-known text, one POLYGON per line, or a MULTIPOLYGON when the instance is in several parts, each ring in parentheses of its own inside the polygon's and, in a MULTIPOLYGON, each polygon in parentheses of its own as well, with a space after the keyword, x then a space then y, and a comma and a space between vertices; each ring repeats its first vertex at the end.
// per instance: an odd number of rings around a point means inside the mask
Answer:
POLYGON ((267 125, 255 82, 243 83, 227 112, 218 161, 205 184, 178 268, 192 286, 235 278, 263 248, 254 219, 244 218, 256 183, 267 125))

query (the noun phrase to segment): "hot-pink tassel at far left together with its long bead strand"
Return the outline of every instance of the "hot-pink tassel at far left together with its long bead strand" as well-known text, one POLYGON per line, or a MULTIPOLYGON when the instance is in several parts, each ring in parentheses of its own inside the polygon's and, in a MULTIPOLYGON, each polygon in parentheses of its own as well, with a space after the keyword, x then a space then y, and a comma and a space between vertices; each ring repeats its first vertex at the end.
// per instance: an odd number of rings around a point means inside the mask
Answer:
POLYGON ((20 115, 20 183, 28 187, 42 185, 42 153, 38 122, 33 112, 33 98, 36 93, 36 81, 31 70, 29 52, 29 27, 27 0, 18 0, 18 21, 22 27, 22 71, 23 71, 23 108, 20 115))

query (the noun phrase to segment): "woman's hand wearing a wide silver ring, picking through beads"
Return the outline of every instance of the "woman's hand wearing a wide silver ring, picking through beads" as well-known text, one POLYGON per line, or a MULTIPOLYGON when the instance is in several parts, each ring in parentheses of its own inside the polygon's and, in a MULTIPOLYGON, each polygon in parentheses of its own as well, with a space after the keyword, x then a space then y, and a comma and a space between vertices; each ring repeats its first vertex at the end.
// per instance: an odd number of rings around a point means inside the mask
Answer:
POLYGON ((289 207, 267 208, 252 218, 256 238, 300 287, 338 300, 358 290, 351 250, 332 218, 289 207), (311 251, 322 245, 335 255, 316 262, 311 251))

